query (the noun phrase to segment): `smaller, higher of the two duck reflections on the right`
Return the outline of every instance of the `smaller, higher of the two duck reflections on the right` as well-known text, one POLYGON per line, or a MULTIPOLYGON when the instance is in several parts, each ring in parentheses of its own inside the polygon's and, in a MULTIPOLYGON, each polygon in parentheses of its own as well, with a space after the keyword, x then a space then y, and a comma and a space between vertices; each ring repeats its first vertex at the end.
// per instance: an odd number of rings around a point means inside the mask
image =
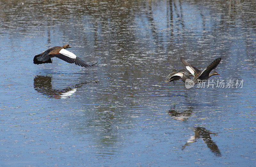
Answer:
POLYGON ((188 117, 193 113, 193 107, 189 107, 188 110, 183 112, 175 111, 175 105, 171 106, 171 109, 167 113, 175 120, 188 120, 188 117))

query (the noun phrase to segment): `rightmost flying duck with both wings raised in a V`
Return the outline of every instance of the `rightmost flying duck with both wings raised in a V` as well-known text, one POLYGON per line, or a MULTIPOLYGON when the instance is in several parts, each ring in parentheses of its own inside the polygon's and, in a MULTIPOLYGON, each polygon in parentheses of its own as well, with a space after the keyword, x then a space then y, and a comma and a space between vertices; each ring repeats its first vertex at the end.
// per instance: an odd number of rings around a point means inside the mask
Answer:
POLYGON ((211 76, 214 75, 220 75, 217 73, 217 71, 213 71, 211 74, 210 72, 212 71, 212 69, 216 69, 216 67, 218 66, 218 64, 221 61, 221 57, 215 59, 206 69, 204 69, 203 72, 201 72, 199 69, 197 69, 196 67, 190 65, 188 62, 185 61, 185 59, 183 57, 180 57, 180 61, 182 62, 182 64, 186 67, 186 69, 192 74, 194 75, 194 79, 193 82, 197 83, 197 82, 204 82, 207 79, 209 79, 211 76))

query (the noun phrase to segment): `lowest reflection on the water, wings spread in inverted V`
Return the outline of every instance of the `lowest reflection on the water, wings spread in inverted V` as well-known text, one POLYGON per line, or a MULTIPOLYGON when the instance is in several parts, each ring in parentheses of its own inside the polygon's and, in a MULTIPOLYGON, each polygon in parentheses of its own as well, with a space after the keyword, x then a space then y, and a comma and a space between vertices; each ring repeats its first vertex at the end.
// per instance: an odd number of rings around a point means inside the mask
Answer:
POLYGON ((209 130, 205 129, 204 127, 196 127, 194 129, 195 135, 191 136, 187 143, 182 147, 182 149, 185 149, 185 147, 192 142, 196 142, 197 139, 202 138, 204 143, 207 145, 207 147, 215 154, 215 156, 221 156, 220 150, 215 142, 212 141, 212 138, 210 134, 213 134, 209 130))

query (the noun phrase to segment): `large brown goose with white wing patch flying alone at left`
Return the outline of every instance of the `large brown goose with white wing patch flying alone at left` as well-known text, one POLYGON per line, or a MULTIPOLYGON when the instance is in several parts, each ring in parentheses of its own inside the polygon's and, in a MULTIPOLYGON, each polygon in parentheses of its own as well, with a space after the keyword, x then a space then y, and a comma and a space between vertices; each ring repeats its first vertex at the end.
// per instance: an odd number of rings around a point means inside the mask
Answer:
POLYGON ((68 63, 75 63, 78 66, 81 67, 93 67, 97 66, 97 63, 95 64, 88 64, 84 62, 84 60, 77 57, 72 52, 67 51, 67 48, 71 48, 69 45, 64 45, 63 47, 52 47, 46 51, 44 51, 41 54, 38 54, 34 57, 34 64, 43 64, 43 63, 52 63, 51 58, 52 57, 58 57, 61 60, 64 60, 68 63))

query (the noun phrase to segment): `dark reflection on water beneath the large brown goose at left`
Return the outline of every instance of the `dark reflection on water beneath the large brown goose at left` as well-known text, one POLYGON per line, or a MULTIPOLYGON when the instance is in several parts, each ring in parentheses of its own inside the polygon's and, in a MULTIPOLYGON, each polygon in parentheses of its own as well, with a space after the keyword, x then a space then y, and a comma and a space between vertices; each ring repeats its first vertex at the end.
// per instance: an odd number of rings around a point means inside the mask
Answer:
POLYGON ((36 91, 50 96, 51 98, 68 98, 86 83, 79 83, 72 87, 67 87, 63 90, 52 89, 52 77, 50 76, 36 76, 34 78, 34 88, 36 91))

